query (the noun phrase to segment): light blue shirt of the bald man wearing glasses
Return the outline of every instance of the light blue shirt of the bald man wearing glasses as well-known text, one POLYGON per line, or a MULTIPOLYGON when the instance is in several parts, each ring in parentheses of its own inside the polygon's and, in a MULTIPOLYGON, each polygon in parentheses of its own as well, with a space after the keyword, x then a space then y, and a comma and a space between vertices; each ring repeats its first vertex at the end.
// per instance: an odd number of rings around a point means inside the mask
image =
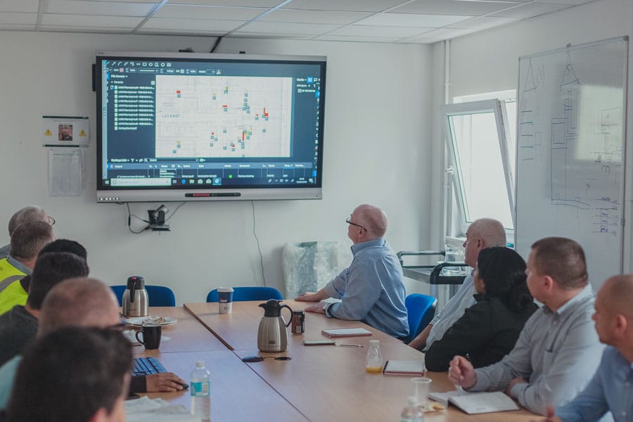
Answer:
POLYGON ((363 321, 397 338, 409 334, 404 307, 402 267, 383 238, 352 245, 350 267, 325 287, 331 298, 341 299, 327 309, 328 316, 363 321))

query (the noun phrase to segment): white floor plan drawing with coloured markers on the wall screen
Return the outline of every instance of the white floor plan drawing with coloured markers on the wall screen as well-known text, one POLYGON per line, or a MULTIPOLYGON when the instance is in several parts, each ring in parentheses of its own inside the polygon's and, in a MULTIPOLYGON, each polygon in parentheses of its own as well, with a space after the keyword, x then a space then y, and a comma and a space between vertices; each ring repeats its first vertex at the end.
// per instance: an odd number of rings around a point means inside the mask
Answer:
POLYGON ((158 75, 156 157, 290 156, 290 77, 158 75))

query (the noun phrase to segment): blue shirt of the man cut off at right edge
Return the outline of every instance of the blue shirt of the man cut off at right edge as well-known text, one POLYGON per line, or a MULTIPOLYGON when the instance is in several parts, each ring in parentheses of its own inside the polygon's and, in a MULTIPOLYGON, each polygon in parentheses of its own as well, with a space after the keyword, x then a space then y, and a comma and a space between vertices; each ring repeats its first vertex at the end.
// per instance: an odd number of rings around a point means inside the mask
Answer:
POLYGON ((565 422, 597 421, 610 411, 616 422, 633 418, 633 364, 608 346, 594 378, 569 404, 556 409, 565 422))

